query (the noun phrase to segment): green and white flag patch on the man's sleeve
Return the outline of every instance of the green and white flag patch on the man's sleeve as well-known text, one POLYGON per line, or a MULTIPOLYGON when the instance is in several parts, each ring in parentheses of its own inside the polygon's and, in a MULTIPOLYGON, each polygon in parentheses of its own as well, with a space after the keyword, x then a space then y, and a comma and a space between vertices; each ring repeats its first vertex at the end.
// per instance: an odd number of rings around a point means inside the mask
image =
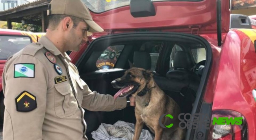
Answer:
POLYGON ((22 63, 14 65, 14 78, 18 77, 35 77, 35 64, 22 63))

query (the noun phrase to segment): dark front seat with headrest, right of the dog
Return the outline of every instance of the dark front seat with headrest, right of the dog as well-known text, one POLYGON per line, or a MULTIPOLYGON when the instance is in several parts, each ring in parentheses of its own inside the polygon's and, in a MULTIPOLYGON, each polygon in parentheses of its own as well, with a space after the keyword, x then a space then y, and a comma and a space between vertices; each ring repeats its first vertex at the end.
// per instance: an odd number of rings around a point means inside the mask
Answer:
POLYGON ((158 86, 176 101, 182 113, 191 113, 200 77, 190 71, 193 62, 185 51, 178 51, 174 56, 174 70, 167 72, 166 77, 155 76, 158 86))

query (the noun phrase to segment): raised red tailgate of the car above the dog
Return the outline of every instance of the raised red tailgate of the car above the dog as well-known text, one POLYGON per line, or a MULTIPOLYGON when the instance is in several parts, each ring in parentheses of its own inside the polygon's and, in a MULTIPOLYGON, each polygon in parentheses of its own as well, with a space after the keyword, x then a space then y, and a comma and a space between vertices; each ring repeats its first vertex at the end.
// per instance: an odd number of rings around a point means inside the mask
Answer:
POLYGON ((230 0, 82 1, 93 20, 110 33, 146 30, 206 34, 217 33, 218 28, 226 33, 230 25, 230 0), (219 27, 217 19, 221 19, 219 27))

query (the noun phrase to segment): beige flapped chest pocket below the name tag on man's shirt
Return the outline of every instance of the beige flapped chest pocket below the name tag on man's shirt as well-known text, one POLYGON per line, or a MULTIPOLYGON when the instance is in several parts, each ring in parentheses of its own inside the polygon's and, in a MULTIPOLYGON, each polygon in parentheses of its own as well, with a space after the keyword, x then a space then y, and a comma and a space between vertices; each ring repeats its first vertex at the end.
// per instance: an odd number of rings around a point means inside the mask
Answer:
POLYGON ((69 117, 76 113, 77 101, 72 93, 71 85, 66 81, 54 85, 54 110, 60 118, 69 117))

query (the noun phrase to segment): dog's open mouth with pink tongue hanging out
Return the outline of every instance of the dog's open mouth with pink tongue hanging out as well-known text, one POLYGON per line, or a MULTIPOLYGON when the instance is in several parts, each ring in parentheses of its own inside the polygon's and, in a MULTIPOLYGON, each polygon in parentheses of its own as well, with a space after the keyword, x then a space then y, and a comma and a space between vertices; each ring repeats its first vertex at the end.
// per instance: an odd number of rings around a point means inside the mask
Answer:
POLYGON ((114 99, 117 99, 117 97, 126 97, 128 95, 131 95, 137 91, 137 86, 135 85, 128 85, 124 88, 121 88, 117 93, 114 95, 114 99))

